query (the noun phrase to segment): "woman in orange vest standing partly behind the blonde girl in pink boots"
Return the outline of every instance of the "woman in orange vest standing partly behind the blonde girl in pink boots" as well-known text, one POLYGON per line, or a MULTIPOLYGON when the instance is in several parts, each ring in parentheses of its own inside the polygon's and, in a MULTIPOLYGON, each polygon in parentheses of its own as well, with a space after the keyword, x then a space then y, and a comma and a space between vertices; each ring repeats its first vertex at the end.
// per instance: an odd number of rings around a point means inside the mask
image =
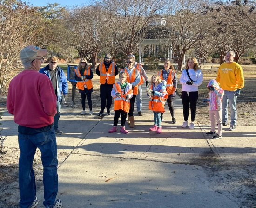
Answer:
MULTIPOLYGON (((172 116, 172 122, 175 124, 177 121, 174 117, 173 99, 176 96, 177 90, 177 74, 174 71, 174 67, 169 60, 164 61, 164 69, 158 72, 158 76, 167 82, 166 91, 168 93, 167 104, 172 116)), ((161 120, 163 120, 163 113, 161 113, 161 120)))

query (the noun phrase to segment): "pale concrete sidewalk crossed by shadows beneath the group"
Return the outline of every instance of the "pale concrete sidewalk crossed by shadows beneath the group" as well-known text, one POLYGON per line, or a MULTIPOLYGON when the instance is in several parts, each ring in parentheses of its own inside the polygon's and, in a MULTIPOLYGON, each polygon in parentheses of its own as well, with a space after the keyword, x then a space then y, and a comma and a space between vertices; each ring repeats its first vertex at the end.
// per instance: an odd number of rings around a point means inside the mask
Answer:
MULTIPOLYGON (((208 153, 225 160, 255 160, 256 126, 237 126, 235 132, 224 127, 223 139, 210 139, 205 135, 210 123, 194 130, 181 127, 182 102, 179 97, 174 101, 177 123, 172 124, 166 110, 161 134, 148 131, 153 113, 147 110, 147 98, 143 116, 135 114, 135 128, 126 126, 128 134, 108 133, 113 111, 99 119, 99 109, 89 116, 62 107, 59 126, 65 134, 57 135, 57 145, 68 157, 59 160, 57 198, 63 208, 239 208, 209 188, 201 166, 188 164, 208 153)), ((3 114, 5 145, 18 147, 13 116, 3 114)), ((38 197, 37 207, 43 208, 43 189, 38 197)))

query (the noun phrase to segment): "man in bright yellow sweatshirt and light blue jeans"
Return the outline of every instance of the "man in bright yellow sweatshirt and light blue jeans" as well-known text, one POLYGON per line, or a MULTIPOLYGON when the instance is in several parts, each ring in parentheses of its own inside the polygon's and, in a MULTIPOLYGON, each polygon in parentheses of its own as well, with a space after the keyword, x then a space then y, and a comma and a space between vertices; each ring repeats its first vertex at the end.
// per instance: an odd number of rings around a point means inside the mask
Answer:
POLYGON ((224 90, 222 100, 222 124, 227 126, 228 123, 228 102, 230 108, 230 127, 229 131, 236 129, 236 99, 244 86, 243 69, 234 62, 235 52, 229 51, 225 57, 225 63, 222 63, 218 69, 216 81, 224 90))

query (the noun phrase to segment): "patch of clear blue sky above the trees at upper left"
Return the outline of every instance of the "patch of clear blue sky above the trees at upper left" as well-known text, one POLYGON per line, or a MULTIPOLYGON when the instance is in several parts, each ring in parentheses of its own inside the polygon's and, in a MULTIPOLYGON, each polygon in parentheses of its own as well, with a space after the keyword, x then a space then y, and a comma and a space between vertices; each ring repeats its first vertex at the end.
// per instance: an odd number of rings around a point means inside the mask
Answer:
POLYGON ((82 5, 82 4, 89 4, 92 2, 92 0, 22 0, 23 2, 30 2, 33 6, 46 6, 47 3, 58 3, 61 6, 76 6, 76 5, 82 5))

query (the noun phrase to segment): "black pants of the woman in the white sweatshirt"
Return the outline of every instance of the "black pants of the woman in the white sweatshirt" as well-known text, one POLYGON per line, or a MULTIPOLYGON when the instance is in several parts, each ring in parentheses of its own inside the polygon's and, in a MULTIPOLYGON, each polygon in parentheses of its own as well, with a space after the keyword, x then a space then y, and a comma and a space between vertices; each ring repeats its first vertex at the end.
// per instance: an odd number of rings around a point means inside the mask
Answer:
POLYGON ((191 110, 191 121, 195 121, 196 103, 198 99, 198 91, 186 92, 182 91, 182 105, 183 105, 183 117, 184 121, 188 121, 189 118, 189 104, 191 110))

